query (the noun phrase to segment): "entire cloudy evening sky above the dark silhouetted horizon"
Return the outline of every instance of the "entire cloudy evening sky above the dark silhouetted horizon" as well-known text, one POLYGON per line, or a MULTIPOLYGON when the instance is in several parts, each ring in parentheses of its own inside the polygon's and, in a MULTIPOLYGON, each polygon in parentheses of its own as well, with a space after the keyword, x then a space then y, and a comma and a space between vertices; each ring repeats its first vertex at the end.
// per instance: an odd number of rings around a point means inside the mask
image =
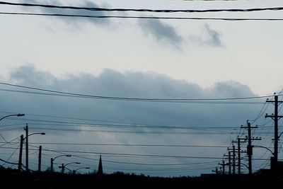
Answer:
MULTIPOLYGON (((58 6, 148 9, 282 7, 282 1, 8 1, 58 6)), ((220 13, 93 12, 0 5, 0 12, 96 16, 282 18, 282 11, 220 13)), ((1 14, 0 158, 18 162, 28 124, 30 168, 79 161, 69 168, 150 176, 199 176, 219 166, 247 120, 261 127, 258 145, 272 148, 266 98, 229 101, 123 101, 90 98, 243 98, 282 91, 282 21, 69 18, 1 14), (15 84, 65 93, 9 86, 15 84), (17 139, 15 139, 17 138, 17 139), (14 143, 8 143, 15 139, 14 143), (51 144, 52 143, 52 144, 51 144), (3 145, 3 146, 2 146, 3 145)), ((280 94, 280 93, 279 93, 280 94)), ((271 97, 272 98, 272 97, 271 97)), ((281 97, 279 96, 281 99, 281 97)), ((281 109, 279 109, 281 110, 281 109)), ((281 122, 280 122, 281 124, 281 122)), ((245 148, 246 144, 243 144, 245 148)), ((281 151, 281 148, 280 148, 281 151)), ((255 148, 255 170, 269 166, 255 148)), ((243 156, 245 156, 243 154, 243 156)), ((282 153, 279 153, 279 157, 282 153)), ((9 164, 2 164, 9 167, 9 164)), ((14 167, 13 167, 14 168, 14 167)), ((59 168, 56 167, 56 171, 59 168)), ((89 170, 80 170, 81 173, 89 170)), ((243 171, 247 172, 243 166, 243 171)))

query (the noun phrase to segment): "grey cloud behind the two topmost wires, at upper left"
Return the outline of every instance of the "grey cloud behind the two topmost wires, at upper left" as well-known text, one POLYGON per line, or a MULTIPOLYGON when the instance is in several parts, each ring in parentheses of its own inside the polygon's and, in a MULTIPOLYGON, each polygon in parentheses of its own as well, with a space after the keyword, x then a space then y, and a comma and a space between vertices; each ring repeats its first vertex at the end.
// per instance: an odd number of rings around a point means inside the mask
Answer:
MULTIPOLYGON (((22 0, 21 2, 25 4, 38 4, 38 1, 34 1, 34 0, 22 0)), ((63 4, 60 1, 56 1, 56 0, 55 1, 46 0, 45 2, 41 2, 41 4, 52 4, 57 6, 63 6, 63 4)), ((92 1, 79 1, 78 6, 108 8, 107 4, 102 4, 100 6, 98 4, 93 3, 92 1)), ((28 9, 34 10, 35 8, 28 8, 28 9)), ((44 8, 44 7, 40 7, 37 9, 40 9, 41 13, 49 13, 49 14, 105 16, 105 13, 103 11, 86 11, 86 10, 75 10, 75 9, 44 8)), ((61 16, 57 16, 56 18, 68 23, 69 25, 75 25, 76 27, 79 27, 79 23, 86 23, 86 22, 100 26, 106 26, 110 24, 110 20, 108 18, 74 18, 74 17, 61 17, 61 16)))

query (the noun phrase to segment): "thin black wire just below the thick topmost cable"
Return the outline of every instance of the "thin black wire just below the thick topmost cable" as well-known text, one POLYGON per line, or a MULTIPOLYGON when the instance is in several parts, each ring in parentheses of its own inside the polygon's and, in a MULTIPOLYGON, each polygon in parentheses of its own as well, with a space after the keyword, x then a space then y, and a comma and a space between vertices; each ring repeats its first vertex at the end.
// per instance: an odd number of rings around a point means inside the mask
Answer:
POLYGON ((165 19, 165 20, 211 20, 211 21, 283 21, 283 18, 200 18, 200 17, 166 17, 166 16, 90 16, 81 14, 59 14, 59 13, 16 13, 0 12, 2 15, 24 15, 24 16, 61 16, 78 18, 134 18, 134 19, 165 19))

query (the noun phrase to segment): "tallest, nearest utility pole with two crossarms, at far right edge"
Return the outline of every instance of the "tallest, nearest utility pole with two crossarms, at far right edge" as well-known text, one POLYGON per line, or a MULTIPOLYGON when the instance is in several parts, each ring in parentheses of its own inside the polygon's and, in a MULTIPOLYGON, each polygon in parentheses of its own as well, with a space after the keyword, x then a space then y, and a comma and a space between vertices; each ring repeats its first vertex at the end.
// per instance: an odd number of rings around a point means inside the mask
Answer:
MULTIPOLYGON (((278 120, 279 118, 283 118, 282 115, 278 115, 278 103, 283 103, 283 101, 278 101, 278 96, 275 95, 275 100, 270 101, 267 99, 267 103, 274 103, 275 104, 275 113, 272 115, 265 115, 265 118, 272 118, 272 120, 275 121, 275 146, 274 146, 274 152, 273 152, 273 162, 270 162, 271 165, 274 165, 276 167, 277 161, 278 161, 278 120)), ((273 168, 273 166, 271 166, 273 168)))

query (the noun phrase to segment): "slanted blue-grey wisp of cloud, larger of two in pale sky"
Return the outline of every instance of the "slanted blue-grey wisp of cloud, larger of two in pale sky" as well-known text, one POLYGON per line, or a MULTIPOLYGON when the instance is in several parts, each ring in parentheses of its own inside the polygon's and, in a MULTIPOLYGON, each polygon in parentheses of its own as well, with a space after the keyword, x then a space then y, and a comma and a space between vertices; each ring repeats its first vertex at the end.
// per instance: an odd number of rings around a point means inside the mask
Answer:
POLYGON ((179 48, 183 43, 183 38, 178 34, 173 26, 163 23, 158 19, 140 20, 139 25, 146 35, 151 35, 151 37, 158 42, 179 48))

